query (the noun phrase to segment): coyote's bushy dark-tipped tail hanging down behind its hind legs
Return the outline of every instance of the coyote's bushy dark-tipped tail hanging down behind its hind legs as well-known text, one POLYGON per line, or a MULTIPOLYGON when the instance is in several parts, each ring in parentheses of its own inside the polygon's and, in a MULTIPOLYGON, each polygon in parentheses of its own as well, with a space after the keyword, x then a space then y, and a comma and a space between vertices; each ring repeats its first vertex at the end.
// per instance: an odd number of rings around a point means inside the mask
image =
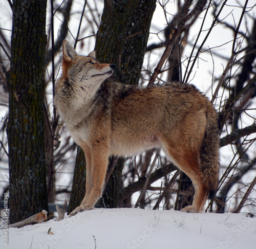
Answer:
POLYGON ((211 103, 208 104, 207 126, 201 148, 201 172, 205 188, 209 191, 208 198, 214 198, 219 179, 219 147, 220 127, 217 112, 211 103))

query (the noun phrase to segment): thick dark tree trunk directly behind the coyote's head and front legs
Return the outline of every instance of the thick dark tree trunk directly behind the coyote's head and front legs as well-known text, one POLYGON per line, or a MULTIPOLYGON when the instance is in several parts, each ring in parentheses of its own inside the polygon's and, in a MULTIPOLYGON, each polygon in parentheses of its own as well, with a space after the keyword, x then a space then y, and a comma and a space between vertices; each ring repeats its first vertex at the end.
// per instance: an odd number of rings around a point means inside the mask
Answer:
MULTIPOLYGON (((112 79, 125 84, 138 84, 155 7, 156 0, 105 0, 95 50, 96 58, 101 63, 116 64, 112 79)), ((80 153, 77 153, 77 160, 82 158, 80 153)), ((122 159, 118 161, 97 207, 117 207, 123 163, 122 159)), ((74 175, 73 183, 76 182, 79 178, 75 179, 74 175)))

